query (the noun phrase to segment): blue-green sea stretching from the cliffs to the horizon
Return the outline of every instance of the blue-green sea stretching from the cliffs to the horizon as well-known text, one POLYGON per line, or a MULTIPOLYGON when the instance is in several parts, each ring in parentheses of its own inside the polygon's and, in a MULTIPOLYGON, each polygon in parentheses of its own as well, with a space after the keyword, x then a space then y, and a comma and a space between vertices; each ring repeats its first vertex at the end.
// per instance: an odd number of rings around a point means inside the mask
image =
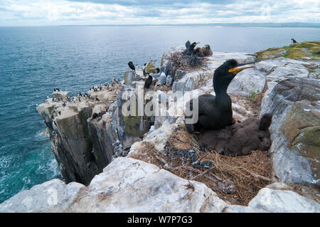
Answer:
POLYGON ((213 51, 256 52, 320 39, 319 28, 210 26, 51 26, 0 28, 0 203, 22 189, 60 177, 36 105, 53 88, 72 95, 121 78, 132 60, 160 62, 187 40, 213 51))

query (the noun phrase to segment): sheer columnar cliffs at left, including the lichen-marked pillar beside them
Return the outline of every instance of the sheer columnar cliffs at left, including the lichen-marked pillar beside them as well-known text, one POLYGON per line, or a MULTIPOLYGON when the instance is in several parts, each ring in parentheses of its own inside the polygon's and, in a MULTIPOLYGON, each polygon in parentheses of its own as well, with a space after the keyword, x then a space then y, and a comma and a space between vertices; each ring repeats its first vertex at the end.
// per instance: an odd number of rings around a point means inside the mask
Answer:
POLYGON ((135 94, 139 85, 143 88, 144 83, 138 81, 142 76, 142 70, 128 71, 125 83, 114 80, 112 85, 90 89, 85 96, 55 91, 53 98, 38 105, 66 183, 89 184, 114 157, 127 154, 149 131, 150 117, 143 113, 127 116, 123 114, 127 110, 122 110, 125 102, 139 102, 135 94))

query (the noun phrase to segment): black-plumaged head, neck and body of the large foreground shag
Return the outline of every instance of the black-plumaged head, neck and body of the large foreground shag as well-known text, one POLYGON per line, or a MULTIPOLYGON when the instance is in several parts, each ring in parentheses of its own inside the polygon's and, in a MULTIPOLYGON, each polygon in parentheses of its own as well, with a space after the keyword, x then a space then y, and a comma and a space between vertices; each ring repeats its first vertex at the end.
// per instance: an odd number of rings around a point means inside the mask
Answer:
MULTIPOLYGON (((231 68, 238 65, 234 59, 227 60, 223 65, 220 65, 213 74, 213 88, 215 96, 200 95, 198 97, 198 122, 196 124, 186 124, 186 129, 189 133, 198 130, 218 130, 227 125, 233 125, 232 102, 227 94, 228 85, 235 77, 235 74, 229 73, 231 68)), ((193 110, 193 100, 187 103, 190 110, 193 110)), ((185 116, 186 120, 191 119, 191 116, 185 116)))

